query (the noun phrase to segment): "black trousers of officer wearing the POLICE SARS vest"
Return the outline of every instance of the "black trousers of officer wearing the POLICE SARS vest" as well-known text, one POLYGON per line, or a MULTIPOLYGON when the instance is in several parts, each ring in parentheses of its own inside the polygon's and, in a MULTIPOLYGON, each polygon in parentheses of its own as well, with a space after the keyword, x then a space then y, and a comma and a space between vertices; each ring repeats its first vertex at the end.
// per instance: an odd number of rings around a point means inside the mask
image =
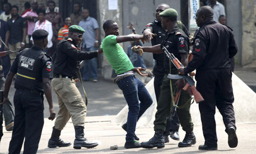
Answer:
POLYGON ((15 117, 9 153, 36 153, 44 125, 43 97, 29 91, 16 90, 14 95, 15 117))

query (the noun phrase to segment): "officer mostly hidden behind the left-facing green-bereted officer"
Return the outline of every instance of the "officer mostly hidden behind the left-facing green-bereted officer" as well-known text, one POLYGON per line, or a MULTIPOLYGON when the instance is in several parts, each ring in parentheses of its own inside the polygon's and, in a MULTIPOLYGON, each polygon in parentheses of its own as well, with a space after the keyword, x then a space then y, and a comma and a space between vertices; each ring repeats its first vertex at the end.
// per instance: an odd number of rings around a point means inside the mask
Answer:
MULTIPOLYGON (((161 17, 159 13, 161 13, 162 11, 168 8, 170 7, 167 4, 160 4, 159 6, 157 6, 156 19, 154 20, 153 23, 147 24, 145 26, 145 29, 143 30, 143 35, 147 37, 148 41, 151 40, 152 46, 159 45, 164 39, 165 30, 162 28, 161 17), (153 37, 153 39, 151 39, 153 36, 152 33, 157 34, 156 36, 153 37)), ((180 29, 182 29, 185 32, 187 36, 189 36, 187 28, 181 23, 181 21, 177 21, 177 25, 180 29)), ((160 96, 160 90, 161 90, 160 86, 162 84, 163 76, 165 75, 165 70, 163 67, 163 57, 164 57, 164 53, 160 53, 160 54, 153 53, 153 58, 155 60, 155 66, 153 69, 153 74, 155 76, 154 89, 155 89, 157 102, 160 96)), ((180 122, 175 112, 174 115, 172 115, 172 118, 170 117, 167 118, 166 128, 163 136, 165 143, 169 142, 168 135, 170 135, 170 138, 174 140, 180 140, 179 133, 178 133, 179 126, 180 126, 180 122)))

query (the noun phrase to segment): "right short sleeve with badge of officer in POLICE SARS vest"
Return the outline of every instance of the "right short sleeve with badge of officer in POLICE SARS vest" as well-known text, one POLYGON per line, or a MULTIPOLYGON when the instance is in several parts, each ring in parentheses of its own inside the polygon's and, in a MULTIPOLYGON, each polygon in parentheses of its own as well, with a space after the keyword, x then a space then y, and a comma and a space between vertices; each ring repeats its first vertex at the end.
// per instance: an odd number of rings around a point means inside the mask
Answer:
POLYGON ((42 62, 42 78, 53 78, 53 71, 52 71, 52 60, 50 58, 43 58, 42 62))

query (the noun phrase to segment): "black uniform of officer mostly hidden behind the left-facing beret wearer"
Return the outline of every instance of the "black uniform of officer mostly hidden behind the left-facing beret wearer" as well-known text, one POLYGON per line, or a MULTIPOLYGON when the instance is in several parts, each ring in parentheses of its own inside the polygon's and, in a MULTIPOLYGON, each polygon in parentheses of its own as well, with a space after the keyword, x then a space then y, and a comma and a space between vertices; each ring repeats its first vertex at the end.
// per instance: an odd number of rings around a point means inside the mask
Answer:
MULTIPOLYGON (((153 23, 147 24, 145 26, 145 29, 151 29, 152 33, 157 34, 157 36, 151 40, 152 46, 159 45, 163 41, 166 31, 162 28, 161 22, 159 22, 158 20, 155 19, 153 23)), ((187 36, 189 36, 188 30, 183 24, 182 24, 182 30, 185 32, 185 34, 187 36)), ((164 64, 163 64, 164 57, 165 57, 164 53, 161 53, 161 54, 153 53, 153 58, 155 59, 155 62, 156 62, 154 69, 153 69, 153 74, 155 76, 154 89, 155 89, 157 102, 158 102, 159 96, 160 96, 160 90, 161 90, 160 87, 161 87, 161 84, 163 81, 163 77, 165 75, 164 64)), ((170 131, 172 131, 172 130, 178 131, 179 126, 180 126, 180 122, 179 122, 177 114, 175 114, 174 116, 172 116, 172 119, 168 118, 167 123, 166 123, 166 129, 164 131, 164 135, 169 135, 169 130, 170 131)))

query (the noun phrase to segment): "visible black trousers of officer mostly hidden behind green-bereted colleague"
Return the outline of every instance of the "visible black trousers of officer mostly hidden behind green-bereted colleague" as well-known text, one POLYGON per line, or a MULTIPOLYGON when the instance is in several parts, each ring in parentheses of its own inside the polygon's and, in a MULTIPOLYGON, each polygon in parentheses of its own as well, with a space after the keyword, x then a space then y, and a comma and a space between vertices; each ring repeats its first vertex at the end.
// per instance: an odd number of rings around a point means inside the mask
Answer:
MULTIPOLYGON (((158 102, 159 96, 160 96, 161 85, 163 82, 163 77, 165 75, 165 70, 163 68, 163 65, 156 64, 153 69, 153 73, 155 76, 154 89, 155 89, 156 99, 158 102)), ((170 135, 170 131, 173 131, 173 130, 179 131, 180 121, 179 121, 177 112, 175 112, 174 115, 171 115, 170 117, 166 117, 166 118, 167 118, 167 121, 166 121, 164 135, 170 135)))

